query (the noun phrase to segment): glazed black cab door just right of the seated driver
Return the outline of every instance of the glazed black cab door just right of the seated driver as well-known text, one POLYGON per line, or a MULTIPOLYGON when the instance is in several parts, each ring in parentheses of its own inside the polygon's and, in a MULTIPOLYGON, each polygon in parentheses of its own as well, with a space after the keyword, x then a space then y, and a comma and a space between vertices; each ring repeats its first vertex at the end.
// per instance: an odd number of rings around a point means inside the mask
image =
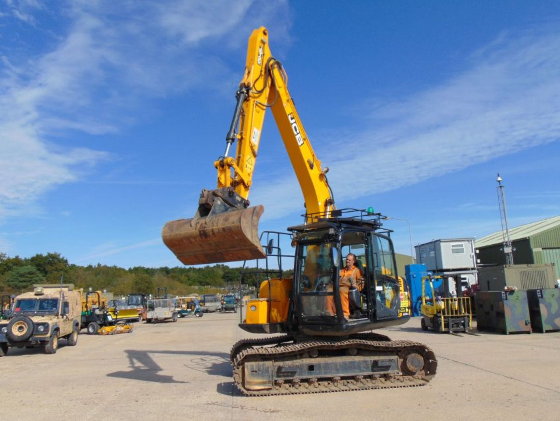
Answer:
POLYGON ((399 316, 400 290, 396 273, 393 242, 385 235, 372 233, 374 288, 370 299, 375 303, 375 320, 399 316))

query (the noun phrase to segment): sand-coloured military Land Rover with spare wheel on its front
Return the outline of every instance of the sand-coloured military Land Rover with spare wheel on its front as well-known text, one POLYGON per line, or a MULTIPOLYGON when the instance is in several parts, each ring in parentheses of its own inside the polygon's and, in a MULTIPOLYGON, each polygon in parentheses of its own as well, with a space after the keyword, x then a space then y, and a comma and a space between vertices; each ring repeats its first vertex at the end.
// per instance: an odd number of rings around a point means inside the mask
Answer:
POLYGON ((60 338, 76 345, 81 302, 81 292, 73 284, 34 285, 33 292, 18 295, 8 320, 0 320, 0 357, 14 346, 42 346, 45 354, 54 354, 60 338))

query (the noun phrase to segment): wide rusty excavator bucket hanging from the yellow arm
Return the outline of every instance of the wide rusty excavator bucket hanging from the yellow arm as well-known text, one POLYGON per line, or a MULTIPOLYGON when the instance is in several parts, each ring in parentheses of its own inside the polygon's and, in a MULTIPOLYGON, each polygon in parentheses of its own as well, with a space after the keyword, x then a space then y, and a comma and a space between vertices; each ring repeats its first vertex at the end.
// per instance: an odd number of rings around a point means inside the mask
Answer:
POLYGON ((263 258, 258 225, 264 207, 248 204, 230 188, 203 189, 194 218, 168 222, 161 237, 185 265, 263 258))

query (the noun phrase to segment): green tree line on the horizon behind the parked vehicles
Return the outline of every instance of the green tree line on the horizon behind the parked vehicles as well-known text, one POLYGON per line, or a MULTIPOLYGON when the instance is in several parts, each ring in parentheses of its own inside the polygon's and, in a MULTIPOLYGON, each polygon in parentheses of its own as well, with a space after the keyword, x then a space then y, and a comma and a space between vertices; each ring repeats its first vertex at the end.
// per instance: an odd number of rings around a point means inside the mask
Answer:
POLYGON ((167 288, 172 295, 218 292, 226 285, 258 284, 262 271, 247 273, 242 267, 214 265, 205 267, 132 267, 71 265, 59 253, 38 254, 29 258, 10 257, 0 253, 0 293, 18 294, 30 290, 33 284, 65 284, 76 288, 106 289, 115 295, 129 293, 156 294, 157 288, 167 288))

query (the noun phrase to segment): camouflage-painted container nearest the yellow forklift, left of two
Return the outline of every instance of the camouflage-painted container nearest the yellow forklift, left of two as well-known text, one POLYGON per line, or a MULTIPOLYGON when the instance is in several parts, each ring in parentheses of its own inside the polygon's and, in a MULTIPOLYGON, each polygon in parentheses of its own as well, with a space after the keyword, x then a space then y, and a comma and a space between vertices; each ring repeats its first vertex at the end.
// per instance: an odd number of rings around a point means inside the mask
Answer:
POLYGON ((526 291, 485 291, 475 295, 477 329, 511 333, 531 333, 531 317, 526 291))

